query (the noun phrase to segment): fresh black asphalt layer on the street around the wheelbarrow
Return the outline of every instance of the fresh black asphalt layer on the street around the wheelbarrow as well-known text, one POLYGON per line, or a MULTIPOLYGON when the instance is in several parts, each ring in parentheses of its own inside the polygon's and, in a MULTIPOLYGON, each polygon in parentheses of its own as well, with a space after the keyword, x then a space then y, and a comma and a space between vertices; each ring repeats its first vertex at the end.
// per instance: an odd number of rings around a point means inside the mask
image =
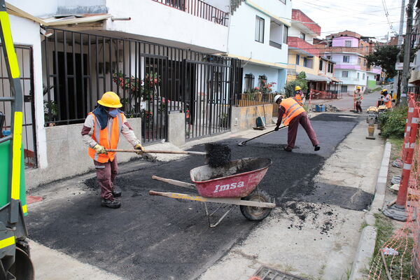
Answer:
MULTIPOLYGON (((260 188, 276 197, 276 204, 282 207, 293 200, 315 201, 322 196, 312 179, 357 122, 312 121, 322 153, 313 151, 301 128, 299 148, 292 153, 281 149, 286 132, 268 134, 244 147, 237 146, 244 139, 228 139, 223 144, 232 149, 233 160, 272 159, 260 188)), ((204 146, 193 151, 204 151, 204 146)), ((190 182, 190 169, 203 162, 204 157, 191 155, 120 174, 120 209, 100 207, 94 179, 87 180, 83 187, 86 193, 45 200, 34 207, 27 218, 30 237, 126 279, 195 279, 258 225, 234 209, 217 228, 209 228, 201 202, 148 195, 148 190, 195 193, 154 181, 151 176, 190 182)), ((328 231, 328 225, 323 230, 328 231)))

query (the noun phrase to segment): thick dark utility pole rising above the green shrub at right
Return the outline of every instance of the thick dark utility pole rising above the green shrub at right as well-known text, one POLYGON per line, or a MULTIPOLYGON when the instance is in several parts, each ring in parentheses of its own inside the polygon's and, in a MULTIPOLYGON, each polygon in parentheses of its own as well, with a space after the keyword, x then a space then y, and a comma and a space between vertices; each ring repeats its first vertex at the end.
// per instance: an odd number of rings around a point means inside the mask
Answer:
POLYGON ((409 0, 407 5, 407 31, 405 31, 404 39, 404 65, 402 67, 402 92, 400 96, 400 103, 407 105, 407 92, 408 92, 408 74, 409 74, 409 57, 412 41, 412 25, 413 25, 413 10, 414 0, 409 0))

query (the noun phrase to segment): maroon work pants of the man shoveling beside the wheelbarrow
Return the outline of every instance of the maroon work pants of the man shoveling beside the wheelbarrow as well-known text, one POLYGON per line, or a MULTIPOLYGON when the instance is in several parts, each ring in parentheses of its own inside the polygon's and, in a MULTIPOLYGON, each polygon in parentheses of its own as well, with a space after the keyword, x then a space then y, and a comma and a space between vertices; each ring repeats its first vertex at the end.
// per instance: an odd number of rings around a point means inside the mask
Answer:
POLYGON ((97 182, 101 188, 101 197, 105 200, 113 200, 113 182, 118 174, 117 157, 112 162, 101 163, 96 160, 93 162, 97 169, 97 182))

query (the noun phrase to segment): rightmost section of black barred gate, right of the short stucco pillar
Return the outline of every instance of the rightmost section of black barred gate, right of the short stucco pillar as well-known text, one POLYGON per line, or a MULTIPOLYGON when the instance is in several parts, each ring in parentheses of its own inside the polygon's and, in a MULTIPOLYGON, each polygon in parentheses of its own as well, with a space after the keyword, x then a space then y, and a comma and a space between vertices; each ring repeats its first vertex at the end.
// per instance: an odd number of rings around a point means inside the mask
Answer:
POLYGON ((230 130, 232 100, 237 90, 235 61, 186 61, 186 138, 230 130))

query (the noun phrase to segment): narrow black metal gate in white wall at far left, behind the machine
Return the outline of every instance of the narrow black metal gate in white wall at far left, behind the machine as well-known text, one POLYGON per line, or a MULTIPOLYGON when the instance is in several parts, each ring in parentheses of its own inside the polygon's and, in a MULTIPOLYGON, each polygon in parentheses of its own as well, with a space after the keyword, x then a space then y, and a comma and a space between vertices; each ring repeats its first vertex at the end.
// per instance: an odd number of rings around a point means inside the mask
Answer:
MULTIPOLYGON (((34 67, 33 51, 31 46, 15 45, 15 52, 18 56, 20 69, 20 83, 22 84, 23 99, 23 130, 22 144, 24 148, 25 167, 36 167, 36 126, 35 126, 35 108, 34 108, 34 67)), ((10 97, 10 85, 8 82, 8 73, 4 62, 3 52, 0 52, 0 96, 10 97)), ((0 112, 5 115, 2 134, 8 134, 10 130, 10 102, 0 102, 0 112)), ((1 135, 0 135, 1 137, 1 135)))

